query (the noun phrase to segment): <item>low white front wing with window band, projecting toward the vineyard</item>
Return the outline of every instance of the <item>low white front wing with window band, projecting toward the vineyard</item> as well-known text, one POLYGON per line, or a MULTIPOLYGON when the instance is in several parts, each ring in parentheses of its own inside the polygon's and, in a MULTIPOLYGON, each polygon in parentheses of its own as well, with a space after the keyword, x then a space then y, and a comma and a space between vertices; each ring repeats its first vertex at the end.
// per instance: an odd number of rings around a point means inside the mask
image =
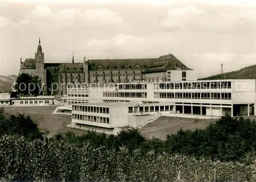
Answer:
POLYGON ((156 115, 172 112, 174 103, 115 102, 72 105, 72 126, 86 125, 114 129, 124 126, 137 127, 156 115))

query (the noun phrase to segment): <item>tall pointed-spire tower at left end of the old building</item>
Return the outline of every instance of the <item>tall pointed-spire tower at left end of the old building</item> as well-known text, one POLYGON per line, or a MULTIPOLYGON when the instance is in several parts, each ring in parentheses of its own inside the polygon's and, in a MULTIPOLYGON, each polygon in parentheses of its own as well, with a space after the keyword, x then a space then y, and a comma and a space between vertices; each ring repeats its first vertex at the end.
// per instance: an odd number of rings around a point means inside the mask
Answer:
POLYGON ((46 83, 46 73, 45 73, 45 53, 42 52, 41 41, 39 37, 39 42, 37 46, 37 51, 35 52, 35 69, 36 69, 36 76, 38 76, 41 83, 46 83))

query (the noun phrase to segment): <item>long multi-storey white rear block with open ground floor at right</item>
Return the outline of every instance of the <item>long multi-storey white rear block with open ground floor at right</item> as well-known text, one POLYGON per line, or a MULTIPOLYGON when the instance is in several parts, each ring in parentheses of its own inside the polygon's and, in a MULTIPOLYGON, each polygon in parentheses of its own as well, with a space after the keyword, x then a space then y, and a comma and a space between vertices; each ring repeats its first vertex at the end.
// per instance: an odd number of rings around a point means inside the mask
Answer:
POLYGON ((120 83, 115 94, 103 92, 103 97, 104 101, 173 102, 176 113, 191 115, 242 116, 247 108, 249 116, 256 112, 255 90, 255 80, 120 83))

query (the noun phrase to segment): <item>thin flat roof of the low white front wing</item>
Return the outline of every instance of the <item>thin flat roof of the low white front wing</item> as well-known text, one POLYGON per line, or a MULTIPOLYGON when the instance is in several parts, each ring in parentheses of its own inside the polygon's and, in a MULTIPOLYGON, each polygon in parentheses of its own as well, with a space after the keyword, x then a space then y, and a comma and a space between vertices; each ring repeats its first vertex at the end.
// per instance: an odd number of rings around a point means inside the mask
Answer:
POLYGON ((93 103, 84 103, 84 104, 72 104, 72 105, 87 105, 87 106, 151 106, 151 105, 174 105, 174 102, 160 102, 160 103, 139 103, 139 102, 93 102, 93 103))

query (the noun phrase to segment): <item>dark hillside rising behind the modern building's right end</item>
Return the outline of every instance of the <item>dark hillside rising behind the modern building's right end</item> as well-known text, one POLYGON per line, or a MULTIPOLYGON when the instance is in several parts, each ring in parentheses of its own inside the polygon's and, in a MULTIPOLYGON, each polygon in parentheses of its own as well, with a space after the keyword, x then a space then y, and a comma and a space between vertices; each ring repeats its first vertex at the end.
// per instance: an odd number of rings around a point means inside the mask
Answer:
MULTIPOLYGON (((244 67, 243 69, 227 72, 225 74, 225 79, 256 79, 256 64, 244 67)), ((218 80, 224 79, 224 74, 213 75, 206 78, 201 78, 199 80, 218 80)))

